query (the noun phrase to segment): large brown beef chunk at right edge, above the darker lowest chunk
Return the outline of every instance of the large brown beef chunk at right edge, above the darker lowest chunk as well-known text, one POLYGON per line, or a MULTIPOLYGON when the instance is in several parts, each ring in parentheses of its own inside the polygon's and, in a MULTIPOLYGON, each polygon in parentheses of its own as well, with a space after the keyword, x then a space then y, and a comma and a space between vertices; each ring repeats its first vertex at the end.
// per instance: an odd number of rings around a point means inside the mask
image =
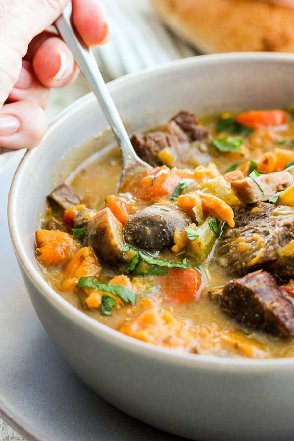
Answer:
POLYGON ((280 279, 294 277, 294 248, 280 253, 294 239, 294 210, 258 202, 235 208, 234 221, 235 228, 226 227, 218 242, 218 265, 234 276, 263 268, 280 279))

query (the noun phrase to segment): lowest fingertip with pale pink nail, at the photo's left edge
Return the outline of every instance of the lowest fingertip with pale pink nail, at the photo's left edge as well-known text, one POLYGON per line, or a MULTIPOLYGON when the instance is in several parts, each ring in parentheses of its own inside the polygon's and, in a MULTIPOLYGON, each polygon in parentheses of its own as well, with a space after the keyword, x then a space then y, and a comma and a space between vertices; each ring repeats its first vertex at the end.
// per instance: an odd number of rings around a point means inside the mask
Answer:
POLYGON ((32 148, 40 144, 47 120, 40 106, 31 101, 5 104, 0 109, 0 146, 32 148))

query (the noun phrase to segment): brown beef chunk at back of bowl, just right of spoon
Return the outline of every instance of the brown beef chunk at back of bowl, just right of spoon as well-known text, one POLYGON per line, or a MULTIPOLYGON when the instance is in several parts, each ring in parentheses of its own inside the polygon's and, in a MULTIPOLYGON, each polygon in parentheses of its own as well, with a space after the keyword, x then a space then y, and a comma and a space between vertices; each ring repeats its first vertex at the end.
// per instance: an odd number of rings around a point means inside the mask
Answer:
POLYGON ((131 143, 140 158, 156 167, 163 164, 158 153, 164 148, 169 147, 173 156, 178 158, 181 153, 187 152, 191 142, 210 137, 208 130, 198 123, 194 115, 179 112, 161 130, 145 134, 134 133, 131 143))

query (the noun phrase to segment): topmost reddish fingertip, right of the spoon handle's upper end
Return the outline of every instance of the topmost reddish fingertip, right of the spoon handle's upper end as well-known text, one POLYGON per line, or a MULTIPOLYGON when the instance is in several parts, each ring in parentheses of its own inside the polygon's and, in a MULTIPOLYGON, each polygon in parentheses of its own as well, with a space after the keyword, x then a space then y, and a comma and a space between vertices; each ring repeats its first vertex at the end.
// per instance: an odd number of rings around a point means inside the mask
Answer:
POLYGON ((73 0, 72 3, 73 22, 84 42, 88 46, 106 43, 110 31, 102 3, 98 0, 73 0))

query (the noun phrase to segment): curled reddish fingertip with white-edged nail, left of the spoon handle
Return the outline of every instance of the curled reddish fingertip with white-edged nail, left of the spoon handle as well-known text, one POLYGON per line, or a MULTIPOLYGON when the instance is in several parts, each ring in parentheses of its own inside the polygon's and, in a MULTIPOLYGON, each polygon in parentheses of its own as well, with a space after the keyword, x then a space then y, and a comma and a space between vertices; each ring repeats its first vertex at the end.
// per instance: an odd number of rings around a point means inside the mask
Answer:
POLYGON ((71 84, 79 70, 73 54, 58 37, 43 41, 33 58, 36 77, 46 87, 62 87, 71 84))

